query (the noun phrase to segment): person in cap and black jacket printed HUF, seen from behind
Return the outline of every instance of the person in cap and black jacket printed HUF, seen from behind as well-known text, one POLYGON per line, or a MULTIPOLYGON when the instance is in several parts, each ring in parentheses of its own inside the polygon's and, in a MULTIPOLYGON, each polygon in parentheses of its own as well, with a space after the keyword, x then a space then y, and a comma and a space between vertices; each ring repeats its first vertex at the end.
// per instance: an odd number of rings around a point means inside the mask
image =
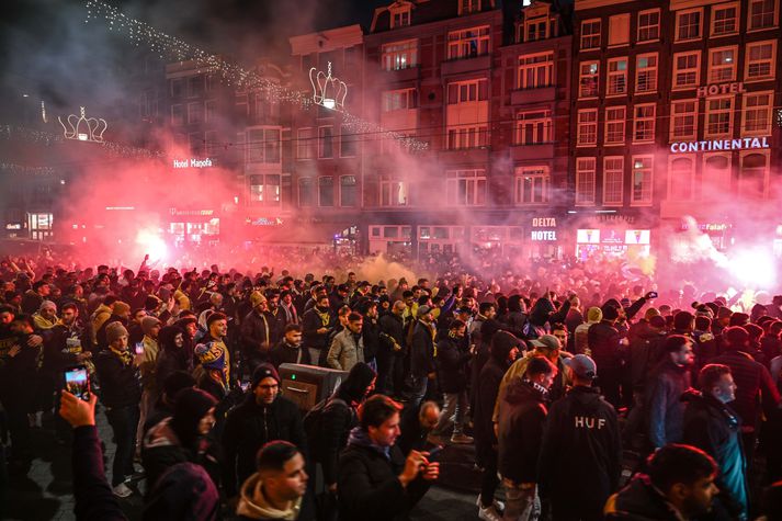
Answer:
POLYGON ((573 387, 548 410, 539 462, 541 496, 551 498, 554 521, 598 521, 622 472, 619 420, 592 386, 594 361, 577 354, 564 364, 573 387))

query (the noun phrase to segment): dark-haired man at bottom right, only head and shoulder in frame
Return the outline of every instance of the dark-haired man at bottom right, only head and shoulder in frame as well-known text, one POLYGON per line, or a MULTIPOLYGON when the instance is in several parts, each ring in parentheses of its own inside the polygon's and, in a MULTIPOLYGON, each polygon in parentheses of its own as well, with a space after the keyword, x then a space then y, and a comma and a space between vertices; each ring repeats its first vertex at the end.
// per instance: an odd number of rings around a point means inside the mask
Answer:
POLYGON ((633 480, 605 503, 605 519, 683 521, 710 512, 718 489, 714 460, 689 445, 667 445, 647 462, 647 474, 633 480))

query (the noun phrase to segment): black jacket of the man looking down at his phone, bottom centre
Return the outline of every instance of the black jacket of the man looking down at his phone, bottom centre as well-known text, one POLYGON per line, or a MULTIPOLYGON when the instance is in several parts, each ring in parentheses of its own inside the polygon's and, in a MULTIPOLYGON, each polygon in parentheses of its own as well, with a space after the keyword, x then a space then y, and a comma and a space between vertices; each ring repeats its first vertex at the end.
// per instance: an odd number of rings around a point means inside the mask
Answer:
POLYGON ((407 488, 397 478, 405 456, 396 446, 389 457, 374 448, 349 445, 339 458, 339 512, 341 521, 400 521, 429 489, 416 478, 407 488))

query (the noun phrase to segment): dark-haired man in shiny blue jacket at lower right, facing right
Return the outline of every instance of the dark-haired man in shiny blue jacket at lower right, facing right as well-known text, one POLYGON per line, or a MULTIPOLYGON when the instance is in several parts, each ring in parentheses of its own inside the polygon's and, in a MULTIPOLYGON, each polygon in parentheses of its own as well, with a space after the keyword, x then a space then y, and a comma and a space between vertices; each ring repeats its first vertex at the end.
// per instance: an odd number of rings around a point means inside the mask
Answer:
POLYGON ((741 419, 727 404, 736 399, 730 367, 707 364, 698 375, 700 392, 690 389, 682 440, 712 456, 719 472, 716 485, 719 502, 735 519, 747 519, 747 461, 741 450, 741 419))

